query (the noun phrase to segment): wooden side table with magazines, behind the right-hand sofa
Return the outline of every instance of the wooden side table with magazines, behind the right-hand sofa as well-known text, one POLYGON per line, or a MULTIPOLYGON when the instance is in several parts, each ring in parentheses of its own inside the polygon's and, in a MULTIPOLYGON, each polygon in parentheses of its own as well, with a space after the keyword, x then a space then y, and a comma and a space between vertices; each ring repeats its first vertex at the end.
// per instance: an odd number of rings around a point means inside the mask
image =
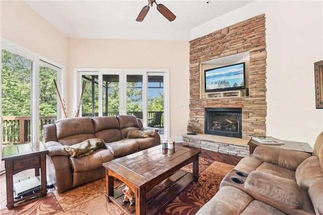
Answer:
MULTIPOLYGON (((313 153, 313 149, 307 144, 307 142, 297 142, 297 141, 289 141, 289 140, 281 140, 281 141, 284 142, 284 145, 273 145, 273 146, 277 146, 282 149, 306 152, 311 155, 313 153)), ((256 147, 260 146, 260 144, 257 144, 255 141, 252 141, 252 139, 250 139, 248 142, 248 146, 249 146, 249 152, 251 155, 253 151, 256 149, 256 147)))

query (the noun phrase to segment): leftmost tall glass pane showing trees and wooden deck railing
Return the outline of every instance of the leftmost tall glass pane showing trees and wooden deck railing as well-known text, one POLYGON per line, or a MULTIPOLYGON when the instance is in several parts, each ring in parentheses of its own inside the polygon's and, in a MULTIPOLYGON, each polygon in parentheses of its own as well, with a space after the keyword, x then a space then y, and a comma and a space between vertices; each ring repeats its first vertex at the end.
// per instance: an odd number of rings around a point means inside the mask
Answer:
POLYGON ((2 116, 5 143, 30 142, 31 75, 34 62, 2 49, 2 116))

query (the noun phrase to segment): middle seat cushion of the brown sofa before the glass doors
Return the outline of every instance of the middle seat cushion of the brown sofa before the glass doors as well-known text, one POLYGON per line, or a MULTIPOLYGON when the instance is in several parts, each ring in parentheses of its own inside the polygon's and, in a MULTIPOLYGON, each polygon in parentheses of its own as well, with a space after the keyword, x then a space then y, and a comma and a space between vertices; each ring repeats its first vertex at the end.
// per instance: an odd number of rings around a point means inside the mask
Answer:
POLYGON ((121 139, 115 142, 105 144, 106 149, 109 149, 115 158, 130 155, 139 151, 138 141, 135 139, 121 139))

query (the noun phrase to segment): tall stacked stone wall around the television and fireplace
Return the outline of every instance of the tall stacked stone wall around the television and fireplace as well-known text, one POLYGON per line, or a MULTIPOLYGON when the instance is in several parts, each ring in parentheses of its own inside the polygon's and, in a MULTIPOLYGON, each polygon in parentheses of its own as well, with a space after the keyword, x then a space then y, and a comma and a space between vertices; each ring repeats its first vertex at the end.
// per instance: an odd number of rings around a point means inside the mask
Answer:
POLYGON ((242 108, 242 138, 266 133, 266 43, 264 14, 190 41, 190 122, 204 133, 205 108, 242 108), (249 52, 249 95, 205 98, 200 94, 202 62, 249 52))

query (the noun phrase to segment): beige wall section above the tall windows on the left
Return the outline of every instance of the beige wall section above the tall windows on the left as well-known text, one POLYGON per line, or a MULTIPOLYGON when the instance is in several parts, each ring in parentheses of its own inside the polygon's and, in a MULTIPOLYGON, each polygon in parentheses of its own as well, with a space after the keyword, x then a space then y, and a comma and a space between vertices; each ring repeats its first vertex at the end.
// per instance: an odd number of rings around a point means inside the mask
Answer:
POLYGON ((0 1, 1 37, 63 66, 68 62, 68 38, 22 1, 0 1))

